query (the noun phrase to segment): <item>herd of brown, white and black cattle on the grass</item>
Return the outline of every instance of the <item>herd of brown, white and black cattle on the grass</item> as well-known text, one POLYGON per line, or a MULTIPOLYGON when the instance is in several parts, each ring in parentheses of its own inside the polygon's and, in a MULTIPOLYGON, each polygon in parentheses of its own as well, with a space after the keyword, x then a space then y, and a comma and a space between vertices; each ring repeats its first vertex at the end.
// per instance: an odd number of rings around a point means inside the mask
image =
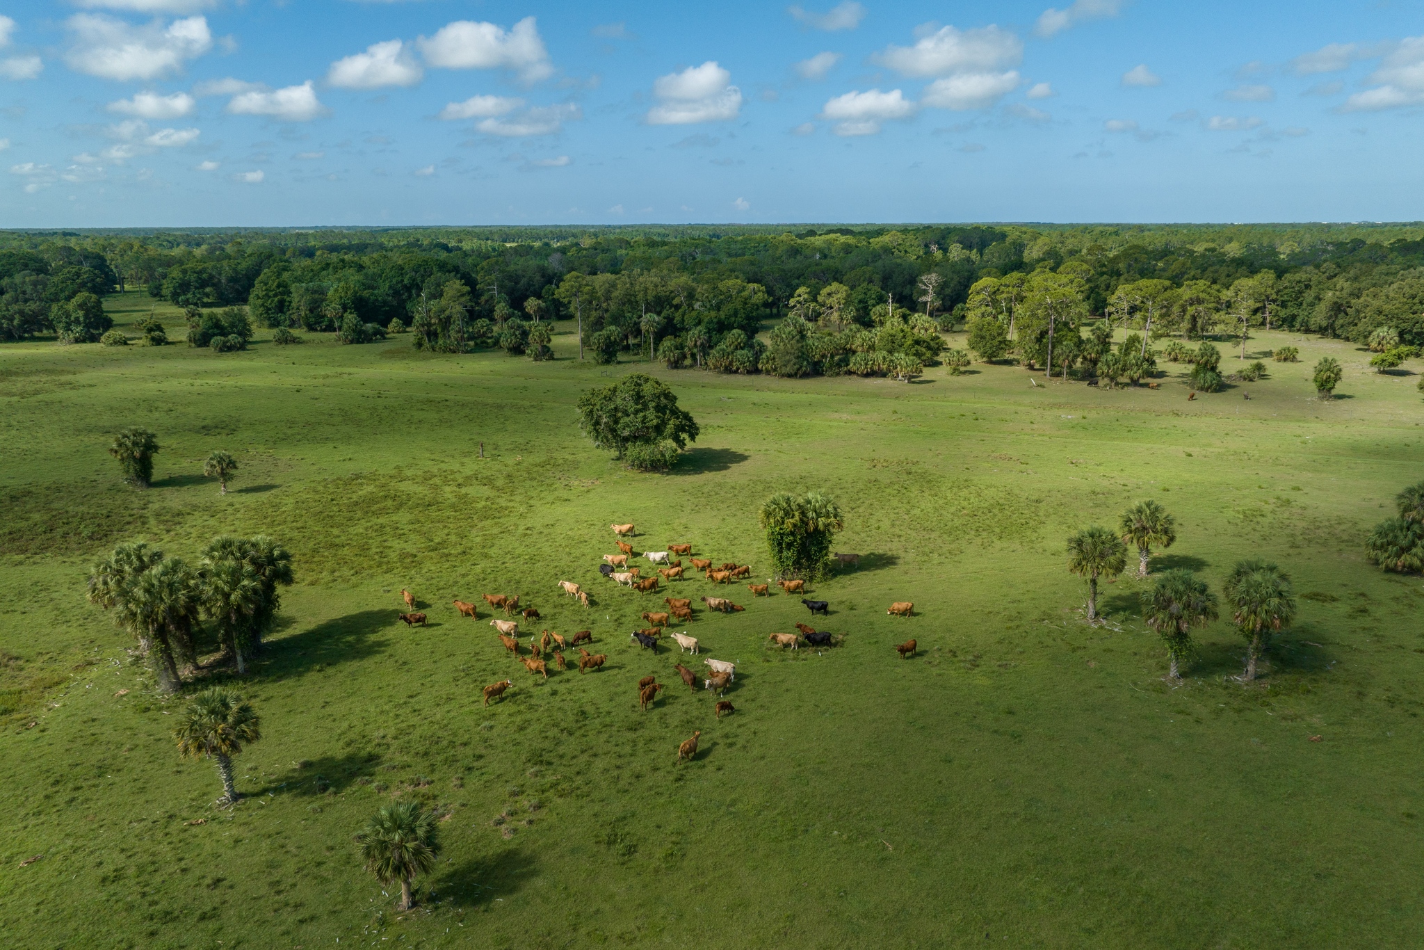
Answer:
MULTIPOLYGON (((612 527, 614 534, 618 536, 619 538, 632 537, 635 534, 635 528, 632 524, 614 524, 609 527, 612 527)), ((600 573, 619 585, 631 587, 632 590, 645 594, 656 591, 659 583, 658 577, 642 578, 639 577, 641 568, 628 565, 629 558, 638 557, 637 554, 634 554, 632 546, 622 540, 618 540, 617 544, 619 554, 605 554, 604 563, 598 565, 600 573), (624 570, 615 570, 615 568, 624 568, 624 570)), ((669 544, 665 551, 642 553, 642 557, 645 557, 649 564, 662 565, 656 568, 662 583, 684 580, 684 567, 681 560, 684 555, 688 557, 688 561, 693 568, 702 571, 703 577, 715 584, 726 584, 742 578, 750 578, 752 575, 752 568, 748 564, 725 563, 721 564, 719 567, 713 567, 711 560, 692 557, 691 544, 669 544), (675 555, 678 557, 678 560, 671 560, 675 555)), ((859 554, 836 554, 834 557, 842 564, 856 564, 860 560, 859 554)), ((755 597, 768 597, 770 584, 772 580, 768 578, 766 584, 749 583, 748 588, 752 591, 755 597)), ((806 593, 806 581, 779 580, 776 581, 776 584, 786 594, 806 593)), ((564 591, 564 595, 572 597, 578 600, 578 602, 582 604, 584 607, 588 607, 588 593, 584 591, 581 585, 572 581, 560 581, 558 587, 560 590, 564 591)), ((414 627, 416 624, 424 627, 426 614, 414 610, 416 607, 414 595, 409 590, 402 590, 400 595, 406 601, 407 612, 397 614, 397 617, 407 627, 414 627)), ((567 669, 568 659, 565 659, 564 651, 567 651, 571 647, 578 649, 580 654, 578 671, 581 674, 590 669, 601 669, 602 665, 608 661, 607 654, 590 654, 587 649, 582 648, 581 644, 592 644, 594 641, 594 634, 592 631, 588 630, 581 630, 568 638, 561 637, 560 634, 555 634, 548 630, 541 631, 538 635, 530 635, 528 655, 525 657, 520 652, 520 640, 518 640, 520 621, 515 620, 515 615, 521 617, 525 621, 541 620, 538 610, 533 607, 520 610, 518 595, 511 597, 506 594, 483 594, 481 598, 484 600, 486 604, 488 604, 491 611, 501 610, 504 611, 504 615, 508 617, 508 620, 494 618, 490 621, 490 625, 494 627, 500 638, 500 642, 504 644, 506 651, 508 651, 511 657, 524 664, 524 668, 533 675, 544 677, 544 679, 548 679, 548 667, 544 659, 545 655, 551 655, 553 661, 558 665, 560 669, 567 669)), ((715 610, 722 612, 738 612, 746 610, 745 607, 733 604, 731 600, 722 597, 703 595, 699 600, 702 601, 702 604, 706 605, 708 610, 715 610)), ((671 621, 688 622, 692 620, 692 598, 665 597, 664 604, 666 604, 668 607, 668 610, 665 611, 642 612, 642 620, 648 622, 649 627, 635 630, 629 635, 629 640, 638 642, 641 648, 651 649, 654 654, 656 654, 661 638, 665 634, 668 634, 678 644, 679 654, 701 655, 702 651, 696 637, 689 637, 685 631, 684 632, 668 631, 668 625, 671 621)), ((812 612, 813 617, 816 614, 824 617, 829 615, 830 612, 829 601, 806 600, 803 597, 802 604, 806 605, 806 608, 812 612)), ((457 600, 454 601, 454 607, 456 610, 460 611, 461 617, 478 618, 480 615, 476 604, 471 604, 468 601, 457 600)), ((897 601, 891 604, 890 610, 887 610, 886 612, 897 617, 910 617, 913 611, 914 611, 914 604, 909 601, 897 601)), ((827 631, 817 631, 816 628, 809 627, 807 624, 796 624, 796 630, 797 632, 795 634, 769 634, 766 638, 768 644, 778 644, 783 649, 786 647, 790 647, 792 649, 799 648, 802 640, 805 640, 812 647, 830 647, 834 644, 833 635, 827 631)), ((916 649, 917 644, 914 640, 906 641, 904 644, 896 647, 896 651, 900 654, 901 658, 914 657, 916 649)), ((681 662, 674 664, 674 669, 682 678, 684 685, 686 685, 693 694, 698 692, 698 681, 701 679, 702 688, 709 692, 713 692, 718 696, 718 702, 715 706, 715 714, 718 719, 721 719, 725 714, 736 712, 736 706, 733 706, 726 699, 721 698, 722 694, 726 691, 726 688, 736 679, 736 664, 725 659, 711 659, 711 658, 703 658, 702 664, 708 668, 708 674, 705 677, 699 677, 688 667, 684 667, 681 662)), ((491 682, 488 687, 484 688, 484 705, 486 706, 490 705, 491 699, 501 698, 504 695, 504 691, 513 685, 514 685, 513 679, 501 679, 500 682, 491 682)), ((644 677, 642 679, 639 679, 638 681, 639 709, 648 709, 654 706, 658 694, 662 691, 662 688, 664 687, 656 681, 656 677, 644 677)), ((691 739, 682 742, 678 746, 679 762, 682 759, 691 761, 696 755, 698 736, 701 735, 702 735, 701 731, 693 732, 691 739)))

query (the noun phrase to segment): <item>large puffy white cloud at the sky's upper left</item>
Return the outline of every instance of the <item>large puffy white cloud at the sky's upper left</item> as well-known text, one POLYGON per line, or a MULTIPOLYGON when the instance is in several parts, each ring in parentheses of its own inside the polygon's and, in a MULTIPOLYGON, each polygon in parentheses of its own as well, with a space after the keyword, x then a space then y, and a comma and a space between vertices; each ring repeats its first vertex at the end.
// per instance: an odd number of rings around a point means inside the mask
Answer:
POLYGON ((105 80, 158 78, 212 48, 205 17, 135 27, 97 13, 75 13, 64 26, 75 40, 64 61, 75 73, 105 80))

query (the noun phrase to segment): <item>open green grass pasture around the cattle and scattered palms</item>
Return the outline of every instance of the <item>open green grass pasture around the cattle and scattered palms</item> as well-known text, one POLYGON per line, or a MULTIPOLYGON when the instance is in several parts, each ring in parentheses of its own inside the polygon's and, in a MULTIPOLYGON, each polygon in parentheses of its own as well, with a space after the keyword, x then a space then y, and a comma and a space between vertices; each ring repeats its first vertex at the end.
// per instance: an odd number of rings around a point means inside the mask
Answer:
MULTIPOLYGON (((121 323, 150 310, 138 295, 111 306, 121 323)), ((642 476, 580 436, 574 403, 646 365, 580 363, 560 329, 545 365, 423 356, 409 338, 276 348, 266 332, 232 355, 0 348, 9 946, 1424 939, 1424 585, 1381 574, 1361 544, 1421 477, 1415 376, 1287 335, 1252 340, 1252 359, 1292 343, 1302 363, 1195 402, 1175 377, 1099 392, 1007 366, 909 386, 655 367, 702 439, 676 474, 642 476), (1344 363, 1344 399, 1314 399, 1321 355, 1344 363), (147 493, 115 484, 105 454, 128 424, 164 446, 147 493), (212 449, 242 464, 226 497, 199 477, 212 449), (844 511, 836 548, 862 554, 813 587, 830 617, 674 585, 746 605, 685 627, 739 661, 736 714, 716 721, 711 694, 672 671, 675 645, 629 641, 662 594, 598 575, 608 526, 637 523, 639 548, 750 561, 765 581, 760 501, 812 489, 844 511), (1163 684, 1132 578, 1104 587, 1106 625, 1084 622, 1064 540, 1146 497, 1179 520, 1159 567, 1219 590, 1236 558, 1265 555, 1294 577, 1299 621, 1257 687, 1232 679, 1243 641, 1226 621, 1200 634, 1186 684, 1163 684), (252 677, 205 674, 249 696, 263 729, 238 759, 248 798, 216 809, 211 765, 171 739, 178 701, 151 692, 84 580, 118 541, 192 558, 214 534, 258 531, 293 550, 298 585, 252 677), (403 587, 429 628, 396 621, 403 587), (591 628, 608 665, 531 677, 483 604, 477 621, 450 605, 484 593, 537 607, 535 632, 591 628), (916 617, 887 617, 896 600, 916 617), (843 645, 765 645, 796 621, 843 645), (901 661, 911 637, 920 652, 901 661), (639 712, 648 674, 668 688, 639 712), (506 677, 514 688, 483 708, 506 677), (702 749, 679 765, 693 729, 702 749), (352 840, 399 796, 447 816, 407 914, 352 840)))

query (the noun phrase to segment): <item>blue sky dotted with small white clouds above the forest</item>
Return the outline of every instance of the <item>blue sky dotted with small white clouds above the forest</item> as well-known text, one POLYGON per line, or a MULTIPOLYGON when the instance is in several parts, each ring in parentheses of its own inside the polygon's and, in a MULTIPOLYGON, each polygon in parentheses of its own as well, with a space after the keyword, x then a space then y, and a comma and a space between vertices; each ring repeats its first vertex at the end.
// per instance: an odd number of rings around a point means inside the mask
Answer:
POLYGON ((1424 3, 0 0, 0 226, 1413 221, 1424 3))

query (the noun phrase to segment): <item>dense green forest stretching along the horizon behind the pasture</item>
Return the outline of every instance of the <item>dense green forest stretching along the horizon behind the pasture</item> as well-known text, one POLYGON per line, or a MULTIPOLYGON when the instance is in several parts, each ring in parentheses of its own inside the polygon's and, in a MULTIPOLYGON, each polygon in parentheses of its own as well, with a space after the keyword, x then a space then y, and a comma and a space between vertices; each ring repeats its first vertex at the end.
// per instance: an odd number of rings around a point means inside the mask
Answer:
MULTIPOLYGON (((995 336, 990 319, 1028 362, 1038 328, 1095 316, 1151 339, 1267 325, 1424 346, 1414 225, 0 232, 0 339, 97 340, 95 299, 132 286, 195 323, 246 306, 255 323, 346 342, 409 329, 437 352, 538 357, 540 325, 577 319, 595 359, 790 376, 896 372, 889 357, 941 353, 937 329, 995 336), (759 339, 773 318, 789 319, 759 339)), ((1087 346, 1072 338, 1064 359, 1087 346)))

